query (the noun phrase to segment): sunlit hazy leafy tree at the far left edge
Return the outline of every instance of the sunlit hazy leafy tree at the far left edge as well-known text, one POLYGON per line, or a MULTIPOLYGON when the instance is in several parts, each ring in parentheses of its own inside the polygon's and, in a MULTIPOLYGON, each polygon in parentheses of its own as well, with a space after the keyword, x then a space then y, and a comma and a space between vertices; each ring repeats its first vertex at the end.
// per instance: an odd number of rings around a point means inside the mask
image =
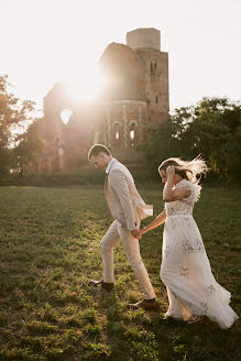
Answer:
POLYGON ((8 76, 0 76, 0 174, 11 168, 14 130, 30 120, 30 112, 34 110, 34 102, 20 101, 9 91, 10 86, 8 76))

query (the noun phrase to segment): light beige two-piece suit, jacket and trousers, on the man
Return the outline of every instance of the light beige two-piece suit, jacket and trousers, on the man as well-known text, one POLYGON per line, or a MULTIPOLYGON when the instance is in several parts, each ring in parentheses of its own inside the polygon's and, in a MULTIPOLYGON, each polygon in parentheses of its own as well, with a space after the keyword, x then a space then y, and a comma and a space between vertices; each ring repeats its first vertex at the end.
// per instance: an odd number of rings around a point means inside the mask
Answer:
POLYGON ((106 198, 114 221, 100 242, 103 281, 114 282, 113 247, 121 240, 130 265, 144 293, 144 298, 154 298, 155 293, 141 259, 139 240, 131 234, 132 230, 139 229, 143 218, 152 216, 152 206, 145 205, 135 188, 131 173, 117 160, 111 161, 107 175, 106 198))

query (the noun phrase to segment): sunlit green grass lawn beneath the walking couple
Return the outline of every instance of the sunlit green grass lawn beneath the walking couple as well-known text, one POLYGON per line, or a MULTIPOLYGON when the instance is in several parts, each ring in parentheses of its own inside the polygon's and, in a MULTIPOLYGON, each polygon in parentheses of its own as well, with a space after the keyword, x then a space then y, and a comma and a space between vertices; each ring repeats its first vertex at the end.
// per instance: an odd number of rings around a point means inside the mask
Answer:
MULTIPOLYGON (((139 190, 156 216, 162 186, 139 190)), ((239 315, 240 196, 238 188, 205 186, 194 212, 213 274, 239 315)), ((194 325, 162 318, 163 227, 140 241, 157 313, 128 309, 142 293, 121 245, 116 292, 88 286, 101 277, 99 241, 110 223, 103 186, 0 187, 0 360, 238 360, 240 321, 221 330, 206 317, 194 325)))

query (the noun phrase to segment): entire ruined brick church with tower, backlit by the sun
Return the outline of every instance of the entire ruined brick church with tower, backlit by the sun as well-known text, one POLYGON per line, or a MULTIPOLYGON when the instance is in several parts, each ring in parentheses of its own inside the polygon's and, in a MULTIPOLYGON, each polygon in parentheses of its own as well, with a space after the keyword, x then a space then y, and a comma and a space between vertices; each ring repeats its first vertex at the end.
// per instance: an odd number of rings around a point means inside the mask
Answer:
POLYGON ((76 102, 65 84, 44 97, 44 153, 39 172, 77 169, 87 164, 89 147, 107 145, 119 158, 129 158, 150 127, 168 118, 168 54, 161 52, 156 29, 127 33, 127 44, 111 43, 99 59, 106 84, 92 102, 76 102), (62 120, 72 111, 67 124, 62 120))

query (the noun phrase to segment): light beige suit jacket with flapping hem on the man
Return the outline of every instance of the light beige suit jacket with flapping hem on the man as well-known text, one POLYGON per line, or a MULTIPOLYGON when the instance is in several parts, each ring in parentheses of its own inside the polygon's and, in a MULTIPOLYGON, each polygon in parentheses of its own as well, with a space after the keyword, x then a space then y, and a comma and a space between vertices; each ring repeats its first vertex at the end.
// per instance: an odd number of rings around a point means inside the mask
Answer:
POLYGON ((107 175, 106 198, 112 217, 130 231, 139 228, 141 219, 153 215, 153 207, 138 193, 131 173, 117 160, 107 175))

